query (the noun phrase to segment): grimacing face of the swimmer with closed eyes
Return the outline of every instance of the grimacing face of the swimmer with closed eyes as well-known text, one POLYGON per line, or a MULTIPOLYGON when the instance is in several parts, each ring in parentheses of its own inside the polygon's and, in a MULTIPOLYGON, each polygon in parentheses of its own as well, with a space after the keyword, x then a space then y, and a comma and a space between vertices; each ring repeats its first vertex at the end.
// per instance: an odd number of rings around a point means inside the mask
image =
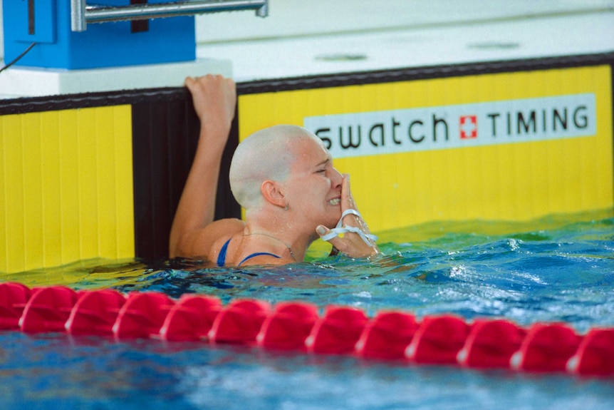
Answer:
POLYGON ((317 225, 334 227, 341 217, 342 175, 333 168, 331 153, 317 137, 301 138, 293 145, 296 160, 286 180, 288 208, 315 231, 317 225))

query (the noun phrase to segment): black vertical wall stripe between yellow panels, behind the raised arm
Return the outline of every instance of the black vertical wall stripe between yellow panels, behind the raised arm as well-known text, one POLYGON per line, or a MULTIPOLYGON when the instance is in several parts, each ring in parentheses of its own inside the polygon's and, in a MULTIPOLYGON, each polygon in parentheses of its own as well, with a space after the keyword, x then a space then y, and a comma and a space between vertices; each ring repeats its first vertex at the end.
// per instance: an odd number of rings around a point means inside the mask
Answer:
MULTIPOLYGON (((235 117, 222 157, 215 218, 241 217, 228 173, 239 141, 235 117)), ((157 260, 168 255, 168 237, 183 186, 196 153, 200 123, 192 99, 132 105, 135 255, 157 260)))

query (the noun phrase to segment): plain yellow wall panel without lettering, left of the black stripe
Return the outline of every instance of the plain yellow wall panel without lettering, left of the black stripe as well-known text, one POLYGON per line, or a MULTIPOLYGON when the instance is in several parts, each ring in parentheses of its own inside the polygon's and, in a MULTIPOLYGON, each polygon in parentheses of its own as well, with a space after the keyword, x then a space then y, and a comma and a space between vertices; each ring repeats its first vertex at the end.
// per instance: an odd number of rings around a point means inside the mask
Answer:
POLYGON ((0 271, 134 256, 130 106, 0 116, 0 271))

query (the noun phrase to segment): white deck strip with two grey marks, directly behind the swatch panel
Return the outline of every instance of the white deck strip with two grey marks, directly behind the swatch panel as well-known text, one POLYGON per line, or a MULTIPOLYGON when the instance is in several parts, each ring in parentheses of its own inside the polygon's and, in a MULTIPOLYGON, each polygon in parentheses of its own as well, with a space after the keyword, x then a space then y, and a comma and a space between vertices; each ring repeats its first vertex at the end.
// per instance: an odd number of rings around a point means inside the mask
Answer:
POLYGON ((237 81, 614 51, 614 10, 481 24, 201 44, 237 81), (340 60, 335 61, 334 57, 340 60), (343 56, 347 58, 343 59, 343 56))

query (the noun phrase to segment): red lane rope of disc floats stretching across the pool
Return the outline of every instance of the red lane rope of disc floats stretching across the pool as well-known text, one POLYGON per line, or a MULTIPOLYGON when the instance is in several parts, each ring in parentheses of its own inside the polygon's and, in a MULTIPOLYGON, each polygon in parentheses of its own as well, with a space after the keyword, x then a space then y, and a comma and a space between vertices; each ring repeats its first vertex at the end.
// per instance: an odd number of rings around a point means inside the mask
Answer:
POLYGON ((75 292, 63 286, 0 283, 0 329, 68 332, 167 341, 250 344, 313 354, 353 354, 422 364, 518 371, 567 371, 614 376, 614 329, 590 329, 582 336, 560 323, 529 329, 505 319, 443 314, 417 322, 405 312, 254 299, 227 306, 217 297, 184 295, 177 301, 160 292, 115 290, 75 292))

